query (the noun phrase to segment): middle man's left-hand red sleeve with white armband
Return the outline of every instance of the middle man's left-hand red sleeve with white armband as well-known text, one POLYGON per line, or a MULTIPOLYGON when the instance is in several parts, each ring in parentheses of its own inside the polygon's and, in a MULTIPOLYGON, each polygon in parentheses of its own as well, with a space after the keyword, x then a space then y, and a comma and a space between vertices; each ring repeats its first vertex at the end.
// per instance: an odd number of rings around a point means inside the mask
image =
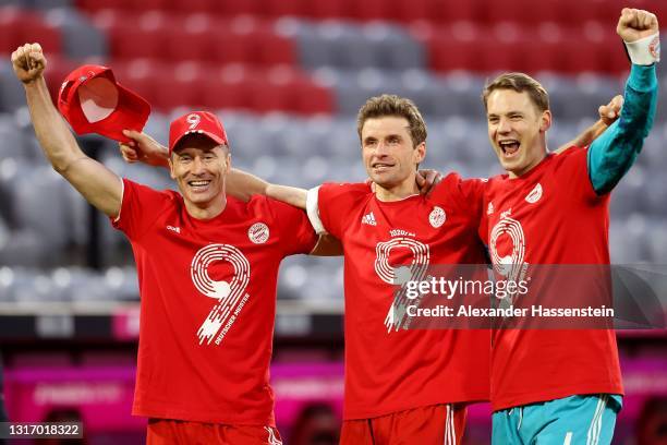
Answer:
MULTIPOLYGON (((365 183, 325 183, 316 190, 317 193, 310 193, 310 205, 313 209, 317 208, 317 217, 324 230, 342 241, 350 209, 361 196, 367 196, 371 193, 371 185, 365 183), (316 207, 313 204, 315 199, 316 207)), ((308 207, 308 203, 306 203, 306 207, 308 207)), ((311 219, 313 219, 312 216, 311 219)))

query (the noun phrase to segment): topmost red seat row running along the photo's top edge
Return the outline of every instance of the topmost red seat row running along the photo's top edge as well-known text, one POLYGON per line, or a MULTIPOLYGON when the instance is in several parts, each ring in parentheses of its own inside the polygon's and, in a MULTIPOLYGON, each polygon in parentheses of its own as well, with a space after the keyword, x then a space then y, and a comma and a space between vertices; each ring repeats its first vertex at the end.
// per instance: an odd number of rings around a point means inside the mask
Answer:
POLYGON ((205 12, 219 15, 251 14, 265 17, 294 15, 313 19, 352 19, 360 21, 417 20, 449 23, 458 20, 495 23, 518 21, 535 23, 556 21, 584 25, 589 20, 614 22, 621 8, 667 13, 667 2, 654 0, 78 0, 84 10, 171 10, 182 13, 205 12))

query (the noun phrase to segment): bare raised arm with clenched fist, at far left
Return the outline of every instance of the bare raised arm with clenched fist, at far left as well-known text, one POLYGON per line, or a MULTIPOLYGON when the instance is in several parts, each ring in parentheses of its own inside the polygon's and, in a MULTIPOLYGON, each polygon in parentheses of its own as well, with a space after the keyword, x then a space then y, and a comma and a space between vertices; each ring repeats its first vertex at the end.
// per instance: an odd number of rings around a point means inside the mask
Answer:
POLYGON ((120 213, 122 182, 112 171, 86 156, 51 103, 44 80, 47 60, 39 44, 12 53, 14 73, 25 88, 35 134, 46 157, 92 205, 110 217, 120 213))

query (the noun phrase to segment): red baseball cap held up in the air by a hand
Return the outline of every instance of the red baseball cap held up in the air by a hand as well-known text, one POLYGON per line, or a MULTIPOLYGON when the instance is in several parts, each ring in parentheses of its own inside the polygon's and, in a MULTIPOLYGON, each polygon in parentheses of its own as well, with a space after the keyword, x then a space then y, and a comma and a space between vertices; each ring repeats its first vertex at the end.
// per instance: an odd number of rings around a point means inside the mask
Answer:
POLYGON ((76 134, 97 133, 129 142, 123 130, 142 131, 150 104, 116 81, 110 68, 86 64, 60 87, 58 109, 76 134))

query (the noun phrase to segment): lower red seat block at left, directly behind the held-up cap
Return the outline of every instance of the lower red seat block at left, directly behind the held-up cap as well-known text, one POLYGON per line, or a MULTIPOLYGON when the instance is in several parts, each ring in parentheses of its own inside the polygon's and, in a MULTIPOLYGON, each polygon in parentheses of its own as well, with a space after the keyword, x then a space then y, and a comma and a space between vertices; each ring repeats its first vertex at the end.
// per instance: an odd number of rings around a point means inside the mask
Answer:
MULTIPOLYGON (((54 95, 75 63, 49 61, 47 80, 54 95)), ((117 80, 145 97, 154 109, 177 107, 283 111, 301 115, 333 112, 333 94, 290 67, 255 69, 199 62, 168 63, 150 59, 108 63, 117 80)))

